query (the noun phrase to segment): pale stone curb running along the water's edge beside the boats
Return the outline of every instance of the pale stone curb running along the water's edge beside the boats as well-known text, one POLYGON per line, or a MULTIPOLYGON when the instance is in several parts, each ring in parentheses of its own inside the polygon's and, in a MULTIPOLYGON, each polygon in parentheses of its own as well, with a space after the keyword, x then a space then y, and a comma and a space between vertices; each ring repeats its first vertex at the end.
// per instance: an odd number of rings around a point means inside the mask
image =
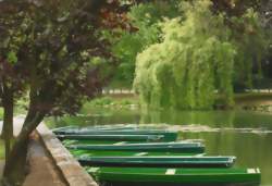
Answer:
POLYGON ((44 123, 37 127, 37 132, 57 168, 70 186, 98 186, 92 177, 81 166, 44 123))

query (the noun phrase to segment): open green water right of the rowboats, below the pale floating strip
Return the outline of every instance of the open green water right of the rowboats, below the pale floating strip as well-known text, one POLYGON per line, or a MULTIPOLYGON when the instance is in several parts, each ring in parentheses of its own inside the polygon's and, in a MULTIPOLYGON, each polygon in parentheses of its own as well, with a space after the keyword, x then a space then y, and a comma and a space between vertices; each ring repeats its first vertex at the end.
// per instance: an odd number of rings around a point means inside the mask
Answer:
POLYGON ((272 135, 244 133, 187 133, 184 138, 205 139, 209 154, 236 156, 236 166, 260 168, 262 184, 271 185, 272 179, 272 135))

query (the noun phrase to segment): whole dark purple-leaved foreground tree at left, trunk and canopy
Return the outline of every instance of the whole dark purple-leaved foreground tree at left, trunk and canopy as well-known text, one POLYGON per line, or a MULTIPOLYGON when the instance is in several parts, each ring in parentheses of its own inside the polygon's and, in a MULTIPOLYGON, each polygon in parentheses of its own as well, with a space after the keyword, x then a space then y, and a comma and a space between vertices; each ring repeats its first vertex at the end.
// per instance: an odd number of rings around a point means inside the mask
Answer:
POLYGON ((0 101, 4 109, 4 181, 15 185, 29 134, 46 115, 75 113, 108 82, 114 59, 104 29, 129 28, 115 0, 0 1, 0 101), (99 61, 96 57, 107 60, 99 61), (98 62, 99 61, 99 62, 98 62), (13 108, 28 96, 22 132, 12 136, 13 108), (14 161, 16 160, 16 161, 14 161))

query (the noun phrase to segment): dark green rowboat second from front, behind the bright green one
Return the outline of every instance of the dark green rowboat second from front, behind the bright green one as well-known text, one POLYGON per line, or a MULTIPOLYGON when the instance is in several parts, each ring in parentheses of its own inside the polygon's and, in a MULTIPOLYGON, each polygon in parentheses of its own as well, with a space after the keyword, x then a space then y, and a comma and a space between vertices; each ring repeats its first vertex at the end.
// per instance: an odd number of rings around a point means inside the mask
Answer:
POLYGON ((86 166, 231 168, 235 157, 82 157, 86 166))

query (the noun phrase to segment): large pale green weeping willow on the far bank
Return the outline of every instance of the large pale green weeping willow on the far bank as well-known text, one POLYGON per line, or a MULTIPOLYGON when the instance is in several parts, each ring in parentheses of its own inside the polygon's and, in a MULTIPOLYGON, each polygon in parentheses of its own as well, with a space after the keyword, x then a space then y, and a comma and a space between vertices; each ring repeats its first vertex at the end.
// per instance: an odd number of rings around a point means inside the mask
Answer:
POLYGON ((163 23, 163 41, 137 55, 134 88, 144 107, 211 109, 215 92, 233 104, 236 48, 223 15, 210 5, 208 0, 182 4, 185 21, 163 23))

